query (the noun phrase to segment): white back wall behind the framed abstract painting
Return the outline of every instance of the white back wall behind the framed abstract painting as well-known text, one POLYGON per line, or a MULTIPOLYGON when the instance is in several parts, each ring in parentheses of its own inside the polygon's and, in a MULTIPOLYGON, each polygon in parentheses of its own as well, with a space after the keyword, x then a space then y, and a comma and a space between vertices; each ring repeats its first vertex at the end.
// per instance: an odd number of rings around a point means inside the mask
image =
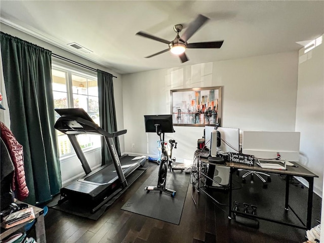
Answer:
MULTIPOLYGON (((158 136, 144 117, 170 114, 170 90, 223 87, 222 127, 295 131, 298 53, 250 57, 123 75, 125 151, 156 156, 158 136), (132 148, 132 144, 135 148, 132 148)), ((178 161, 192 159, 202 127, 174 127, 178 161)))

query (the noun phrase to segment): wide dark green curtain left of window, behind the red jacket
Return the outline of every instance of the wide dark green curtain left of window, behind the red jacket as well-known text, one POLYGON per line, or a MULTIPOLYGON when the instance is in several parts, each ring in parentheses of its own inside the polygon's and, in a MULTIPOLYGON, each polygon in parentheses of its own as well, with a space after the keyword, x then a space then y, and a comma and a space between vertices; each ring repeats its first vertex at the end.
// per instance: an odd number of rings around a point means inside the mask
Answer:
POLYGON ((35 205, 52 199, 61 188, 54 130, 51 51, 1 32, 11 131, 23 146, 29 196, 35 205))

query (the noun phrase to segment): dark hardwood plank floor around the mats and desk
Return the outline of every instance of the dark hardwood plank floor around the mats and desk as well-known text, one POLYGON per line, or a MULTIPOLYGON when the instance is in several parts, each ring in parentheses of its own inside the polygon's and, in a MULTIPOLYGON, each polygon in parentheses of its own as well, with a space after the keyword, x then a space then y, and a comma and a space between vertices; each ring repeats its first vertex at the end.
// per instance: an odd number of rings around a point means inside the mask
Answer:
MULTIPOLYGON (((219 203, 223 205, 215 203, 204 192, 200 192, 195 206, 191 197, 191 184, 188 187, 179 225, 121 210, 120 208, 132 194, 139 187, 143 187, 144 181, 156 166, 156 164, 150 163, 146 172, 97 221, 50 208, 45 217, 47 242, 301 243, 305 241, 305 230, 302 229, 262 220, 260 220, 259 229, 254 229, 239 224, 233 219, 228 220, 228 207, 224 206, 227 204, 228 193, 223 190, 213 190, 211 192, 219 203)), ((233 199, 236 198, 241 202, 245 200, 247 203, 258 205, 260 207, 258 210, 262 213, 261 206, 270 206, 270 208, 274 206, 272 209, 264 210, 264 212, 268 212, 273 217, 286 218, 285 213, 282 213, 282 208, 275 206, 276 203, 282 203, 280 197, 282 197, 285 189, 284 179, 272 174, 272 181, 269 183, 268 188, 263 189, 259 179, 255 179, 254 183, 251 183, 250 178, 248 178, 246 184, 242 184, 241 177, 236 174, 233 177, 233 199)), ((295 211, 304 216, 307 203, 307 188, 301 188, 298 182, 293 183, 295 186, 291 186, 290 202, 296 207, 295 211)), ((316 219, 320 219, 320 206, 321 198, 314 194, 312 227, 318 224, 316 219)), ((156 210, 159 209, 156 208, 156 210)), ((292 219, 288 217, 286 220, 290 221, 292 219)), ((30 234, 34 234, 34 229, 30 234)))

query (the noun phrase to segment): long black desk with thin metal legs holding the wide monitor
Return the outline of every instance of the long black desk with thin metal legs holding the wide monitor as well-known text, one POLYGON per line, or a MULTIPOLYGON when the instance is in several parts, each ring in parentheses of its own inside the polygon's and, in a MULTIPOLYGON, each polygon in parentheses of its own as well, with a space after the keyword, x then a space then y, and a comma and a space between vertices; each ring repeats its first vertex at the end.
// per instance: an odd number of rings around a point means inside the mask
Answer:
MULTIPOLYGON (((195 156, 200 162, 210 164, 208 159, 199 158, 197 152, 195 153, 195 156)), ((283 224, 283 225, 288 225, 288 226, 292 226, 292 227, 296 227, 296 228, 310 229, 311 228, 311 216, 312 216, 312 204, 313 204, 314 177, 318 177, 318 176, 315 175, 314 173, 308 171, 306 168, 302 167, 301 165, 299 165, 296 162, 293 162, 293 164, 298 166, 298 167, 287 166, 287 170, 274 170, 274 169, 264 169, 264 168, 261 168, 260 166, 258 166, 256 164, 254 166, 247 166, 247 165, 242 165, 242 164, 226 162, 225 165, 223 165, 223 166, 230 167, 228 218, 231 219, 232 214, 234 214, 234 213, 235 214, 240 214, 240 215, 243 215, 243 216, 245 215, 245 213, 243 213, 243 212, 236 212, 236 211, 234 211, 232 209, 232 206, 233 206, 232 205, 232 184, 233 184, 232 174, 233 174, 233 172, 236 171, 237 169, 249 170, 249 171, 260 171, 260 172, 265 172, 265 173, 286 175, 285 210, 287 210, 287 211, 291 210, 297 216, 297 218, 300 220, 302 225, 304 225, 304 226, 291 224, 291 223, 286 223, 286 222, 278 221, 278 220, 271 219, 271 218, 261 217, 261 216, 257 216, 257 215, 251 215, 251 214, 246 214, 246 215, 248 215, 249 217, 252 217, 252 218, 257 218, 257 219, 261 219, 261 220, 267 220, 267 221, 270 221, 270 222, 279 223, 279 224, 283 224), (302 177, 309 183, 309 186, 308 186, 308 199, 307 199, 306 224, 300 219, 300 217, 296 214, 296 212, 289 206, 289 185, 290 185, 289 181, 290 181, 290 178, 293 177, 293 176, 302 177)))

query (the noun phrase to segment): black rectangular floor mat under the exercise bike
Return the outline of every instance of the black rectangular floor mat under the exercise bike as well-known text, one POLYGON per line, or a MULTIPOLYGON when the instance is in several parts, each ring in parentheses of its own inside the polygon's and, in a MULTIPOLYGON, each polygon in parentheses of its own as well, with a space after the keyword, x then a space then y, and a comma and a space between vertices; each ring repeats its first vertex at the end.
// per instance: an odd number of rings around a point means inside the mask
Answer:
POLYGON ((159 191, 149 191, 147 193, 144 190, 146 186, 157 186, 158 168, 159 166, 156 166, 156 169, 144 184, 121 209, 179 225, 190 174, 185 174, 181 171, 168 171, 166 186, 177 191, 175 197, 166 192, 160 194, 159 191))

